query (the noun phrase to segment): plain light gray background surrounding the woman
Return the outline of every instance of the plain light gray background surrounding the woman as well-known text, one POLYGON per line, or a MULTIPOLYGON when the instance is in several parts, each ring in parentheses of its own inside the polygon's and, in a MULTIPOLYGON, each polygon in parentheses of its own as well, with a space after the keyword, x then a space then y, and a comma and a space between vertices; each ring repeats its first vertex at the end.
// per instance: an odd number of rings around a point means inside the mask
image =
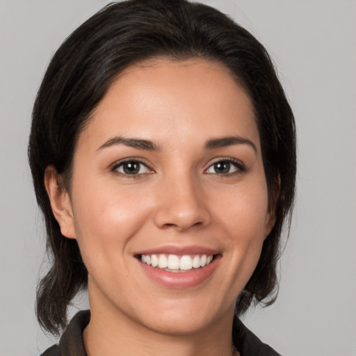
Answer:
MULTIPOLYGON (((26 160, 31 106, 59 44, 107 2, 0 0, 1 356, 38 355, 54 342, 33 311, 46 265, 26 160)), ((298 122, 298 199, 280 295, 245 323, 283 355, 355 356, 356 1, 204 2, 265 44, 298 122)))

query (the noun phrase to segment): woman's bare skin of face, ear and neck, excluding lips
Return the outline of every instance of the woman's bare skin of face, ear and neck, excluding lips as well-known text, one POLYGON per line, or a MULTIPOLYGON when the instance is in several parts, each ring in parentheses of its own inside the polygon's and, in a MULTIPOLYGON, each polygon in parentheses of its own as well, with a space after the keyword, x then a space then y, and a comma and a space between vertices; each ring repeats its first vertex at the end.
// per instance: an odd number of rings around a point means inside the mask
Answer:
POLYGON ((129 67, 81 132, 73 167, 70 195, 53 167, 45 184, 88 268, 88 355, 232 355, 234 300, 274 217, 252 102, 229 70, 203 59, 129 67), (110 145, 116 136, 157 149, 110 145), (206 147, 231 136, 248 143, 206 147), (144 163, 138 174, 124 173, 128 158, 144 163), (217 172, 227 160, 237 163, 217 172), (134 255, 162 245, 199 245, 220 259, 204 282, 171 289, 134 255))

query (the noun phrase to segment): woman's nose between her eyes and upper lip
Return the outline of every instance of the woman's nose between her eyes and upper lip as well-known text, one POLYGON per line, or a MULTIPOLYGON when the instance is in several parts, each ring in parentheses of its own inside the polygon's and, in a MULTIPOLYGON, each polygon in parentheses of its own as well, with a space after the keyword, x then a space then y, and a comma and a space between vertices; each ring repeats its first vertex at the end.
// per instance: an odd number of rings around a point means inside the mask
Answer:
POLYGON ((154 222, 160 228, 172 227, 179 232, 209 225, 211 214, 201 182, 191 175, 165 179, 159 187, 154 222))

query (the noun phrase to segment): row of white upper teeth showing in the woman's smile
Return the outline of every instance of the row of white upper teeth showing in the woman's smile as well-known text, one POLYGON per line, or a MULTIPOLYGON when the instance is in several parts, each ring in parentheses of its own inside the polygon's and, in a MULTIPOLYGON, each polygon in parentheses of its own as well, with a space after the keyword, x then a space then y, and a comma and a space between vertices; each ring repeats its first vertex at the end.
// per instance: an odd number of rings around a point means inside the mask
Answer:
POLYGON ((167 258, 165 254, 142 254, 141 261, 152 267, 178 272, 179 270, 191 270, 192 268, 207 266, 213 261, 213 255, 196 254, 192 257, 188 254, 185 254, 184 256, 170 254, 167 258))

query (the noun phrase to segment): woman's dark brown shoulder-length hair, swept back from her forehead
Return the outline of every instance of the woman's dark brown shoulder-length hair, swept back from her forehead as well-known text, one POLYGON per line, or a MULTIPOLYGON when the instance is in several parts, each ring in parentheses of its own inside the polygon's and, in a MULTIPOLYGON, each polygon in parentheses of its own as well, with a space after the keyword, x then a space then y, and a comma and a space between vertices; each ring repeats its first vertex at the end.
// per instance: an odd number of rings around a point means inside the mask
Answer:
POLYGON ((275 225, 236 299, 236 312, 245 312, 254 302, 268 305, 275 300, 282 225, 291 216, 295 194, 296 133, 273 63, 248 31, 214 8, 185 0, 129 0, 109 4, 63 42, 35 99, 29 163, 51 260, 38 284, 36 312, 50 332, 65 327, 67 307, 86 288, 88 272, 76 241, 60 233, 44 188, 44 170, 54 165, 70 189, 76 140, 90 113, 122 70, 157 56, 223 63, 252 99, 275 225))

